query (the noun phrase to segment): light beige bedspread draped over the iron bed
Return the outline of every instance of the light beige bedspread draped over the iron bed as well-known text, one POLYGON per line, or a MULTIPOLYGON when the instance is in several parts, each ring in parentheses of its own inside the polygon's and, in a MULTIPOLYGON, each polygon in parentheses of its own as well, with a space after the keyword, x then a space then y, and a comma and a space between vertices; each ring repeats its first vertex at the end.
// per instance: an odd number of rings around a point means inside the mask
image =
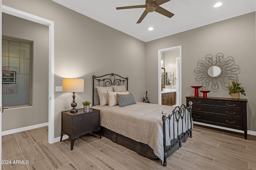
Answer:
MULTIPOLYGON (((93 106, 94 109, 100 110, 100 125, 131 138, 135 141, 149 145, 156 156, 160 160, 164 159, 163 147, 163 130, 162 130, 162 111, 165 110, 167 115, 172 113, 175 108, 173 106, 164 106, 158 104, 148 104, 136 102, 136 104, 119 107, 118 105, 107 106, 93 106)), ((171 121, 173 122, 173 121, 171 121)), ((184 132, 186 127, 190 127, 190 121, 184 120, 184 132), (189 123, 189 124, 187 124, 189 123)), ((169 124, 166 122, 166 127, 169 124)), ((171 123, 173 127, 173 123, 171 123)), ((175 131, 177 126, 175 127, 175 131)), ((167 128, 166 128, 167 129, 167 128)), ((173 129, 173 128, 172 128, 173 129)), ((182 131, 182 121, 179 121, 179 134, 182 131)), ((168 133, 168 131, 167 131, 168 133)), ((172 133, 171 133, 172 134, 172 133)), ((177 132, 175 138, 177 137, 177 132)), ((171 136, 166 135, 166 145, 170 145, 171 136)))

